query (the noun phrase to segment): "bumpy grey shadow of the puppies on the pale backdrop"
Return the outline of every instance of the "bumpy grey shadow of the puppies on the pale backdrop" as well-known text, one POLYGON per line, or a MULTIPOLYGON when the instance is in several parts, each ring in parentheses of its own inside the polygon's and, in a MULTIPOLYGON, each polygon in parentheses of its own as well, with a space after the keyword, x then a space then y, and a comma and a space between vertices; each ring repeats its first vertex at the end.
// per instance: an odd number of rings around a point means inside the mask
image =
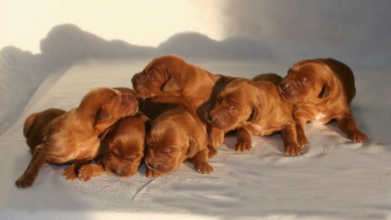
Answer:
MULTIPOLYGON (((215 41, 199 33, 179 33, 157 47, 106 41, 73 24, 55 26, 41 41, 41 54, 14 46, 0 51, 0 134, 12 126, 45 77, 87 59, 152 59, 163 54, 213 60, 271 60, 271 50, 257 41, 215 41)), ((142 68, 140 66, 140 68, 142 68)))

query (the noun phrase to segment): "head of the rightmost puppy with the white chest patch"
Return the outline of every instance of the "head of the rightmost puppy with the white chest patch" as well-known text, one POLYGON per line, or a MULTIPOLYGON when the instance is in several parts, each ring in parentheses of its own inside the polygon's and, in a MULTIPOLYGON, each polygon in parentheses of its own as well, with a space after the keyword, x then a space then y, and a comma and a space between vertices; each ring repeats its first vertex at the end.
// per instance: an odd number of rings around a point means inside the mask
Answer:
POLYGON ((317 60, 304 60, 289 68, 278 86, 283 100, 294 103, 317 102, 330 95, 332 70, 317 60))

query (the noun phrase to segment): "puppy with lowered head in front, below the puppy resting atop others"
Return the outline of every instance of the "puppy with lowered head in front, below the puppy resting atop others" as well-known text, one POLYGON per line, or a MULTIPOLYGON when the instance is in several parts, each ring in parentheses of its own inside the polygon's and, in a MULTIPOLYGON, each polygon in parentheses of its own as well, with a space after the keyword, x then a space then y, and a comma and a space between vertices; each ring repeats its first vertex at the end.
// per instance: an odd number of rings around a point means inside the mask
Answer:
POLYGON ((153 119, 146 137, 145 176, 154 178, 172 173, 187 159, 198 173, 213 172, 208 163, 206 128, 195 112, 174 96, 155 97, 145 102, 143 109, 149 109, 147 115, 153 119))

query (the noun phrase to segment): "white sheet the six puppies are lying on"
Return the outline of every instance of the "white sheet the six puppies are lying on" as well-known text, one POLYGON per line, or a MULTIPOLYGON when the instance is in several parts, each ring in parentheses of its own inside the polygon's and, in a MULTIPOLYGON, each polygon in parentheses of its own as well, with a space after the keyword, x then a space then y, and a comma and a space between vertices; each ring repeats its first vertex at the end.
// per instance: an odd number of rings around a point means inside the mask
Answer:
MULTIPOLYGON (((0 219, 390 219, 390 72, 351 66, 357 95, 352 111, 368 143, 354 144, 335 124, 306 127, 310 146, 301 156, 283 154, 280 135, 254 137, 248 153, 232 150, 228 137, 210 175, 189 162, 173 174, 128 179, 103 175, 89 182, 66 181, 65 166, 41 169, 32 188, 17 189, 31 154, 22 135, 28 114, 56 107, 69 110, 95 87, 130 87, 132 75, 149 61, 84 60, 62 74, 51 73, 16 123, 0 136, 0 219)), ((226 75, 284 75, 287 65, 189 60, 226 75)), ((8 94, 12 95, 12 94, 8 94)))

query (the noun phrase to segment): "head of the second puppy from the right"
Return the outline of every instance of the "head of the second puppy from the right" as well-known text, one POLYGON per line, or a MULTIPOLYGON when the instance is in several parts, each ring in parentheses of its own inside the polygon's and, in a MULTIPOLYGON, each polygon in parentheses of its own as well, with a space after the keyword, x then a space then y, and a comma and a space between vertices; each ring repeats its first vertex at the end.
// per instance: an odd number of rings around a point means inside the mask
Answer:
POLYGON ((209 122, 220 130, 233 130, 248 122, 255 122, 260 102, 259 89, 253 82, 232 78, 217 94, 209 112, 209 122))

